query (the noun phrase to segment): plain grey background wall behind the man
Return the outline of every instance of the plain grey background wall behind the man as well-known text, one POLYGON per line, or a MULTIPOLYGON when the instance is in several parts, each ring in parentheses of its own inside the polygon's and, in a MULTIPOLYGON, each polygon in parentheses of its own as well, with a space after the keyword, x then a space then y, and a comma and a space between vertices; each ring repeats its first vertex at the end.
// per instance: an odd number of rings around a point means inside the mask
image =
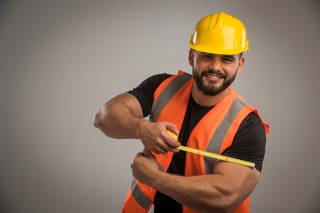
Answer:
POLYGON ((0 211, 120 212, 139 140, 94 113, 156 73, 191 72, 204 15, 247 28, 233 88, 271 126, 252 212, 320 212, 318 1, 2 1, 0 211))

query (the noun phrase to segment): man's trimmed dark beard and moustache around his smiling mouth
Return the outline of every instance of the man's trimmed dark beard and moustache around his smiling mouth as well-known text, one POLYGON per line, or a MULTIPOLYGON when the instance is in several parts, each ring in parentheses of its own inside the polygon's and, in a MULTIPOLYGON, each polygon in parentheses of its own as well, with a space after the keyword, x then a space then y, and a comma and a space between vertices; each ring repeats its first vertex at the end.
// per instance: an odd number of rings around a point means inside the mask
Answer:
POLYGON ((236 75, 237 75, 236 73, 229 78, 227 77, 227 75, 223 74, 222 75, 223 82, 221 86, 217 86, 215 82, 209 82, 208 85, 205 85, 203 80, 203 77, 205 76, 205 74, 218 74, 219 76, 221 76, 222 73, 217 73, 213 71, 203 71, 197 74, 194 68, 192 68, 192 74, 194 77, 194 81, 198 87, 198 90, 202 92, 203 95, 210 95, 210 96, 218 95, 219 93, 224 91, 226 88, 228 88, 235 81, 236 75))

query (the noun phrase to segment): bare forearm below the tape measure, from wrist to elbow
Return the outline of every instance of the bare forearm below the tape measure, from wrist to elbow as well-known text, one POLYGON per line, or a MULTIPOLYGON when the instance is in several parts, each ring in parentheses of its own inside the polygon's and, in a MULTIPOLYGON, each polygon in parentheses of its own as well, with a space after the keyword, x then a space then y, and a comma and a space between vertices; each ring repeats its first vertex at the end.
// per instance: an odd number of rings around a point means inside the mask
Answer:
POLYGON ((177 176, 162 173, 152 183, 156 190, 200 212, 232 212, 239 204, 221 175, 177 176), (220 184, 219 184, 220 183, 220 184))

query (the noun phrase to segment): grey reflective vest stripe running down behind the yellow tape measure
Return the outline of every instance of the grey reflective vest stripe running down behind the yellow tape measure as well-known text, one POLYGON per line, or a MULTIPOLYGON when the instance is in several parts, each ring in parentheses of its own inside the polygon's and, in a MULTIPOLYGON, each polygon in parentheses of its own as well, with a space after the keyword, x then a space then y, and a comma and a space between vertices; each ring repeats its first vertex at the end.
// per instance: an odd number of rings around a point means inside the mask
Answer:
MULTIPOLYGON (((210 139, 210 142, 205 151, 219 153, 223 140, 227 134, 228 129, 234 122, 237 115, 244 108, 246 102, 240 98, 236 98, 232 103, 230 109, 225 114, 224 118, 221 120, 216 131, 210 139)), ((204 156, 204 168, 205 174, 213 174, 213 168, 216 159, 204 156)))

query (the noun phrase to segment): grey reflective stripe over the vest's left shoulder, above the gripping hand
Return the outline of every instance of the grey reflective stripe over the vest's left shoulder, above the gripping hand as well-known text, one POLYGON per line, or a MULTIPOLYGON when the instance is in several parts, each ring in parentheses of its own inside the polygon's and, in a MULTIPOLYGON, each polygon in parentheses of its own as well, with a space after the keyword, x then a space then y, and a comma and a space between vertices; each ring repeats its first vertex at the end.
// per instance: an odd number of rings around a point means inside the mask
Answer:
POLYGON ((158 98, 152 104, 151 114, 149 118, 151 122, 156 121, 167 103, 183 86, 185 86, 189 82, 191 78, 192 75, 188 73, 178 75, 167 85, 167 87, 164 88, 164 90, 159 94, 158 98))

